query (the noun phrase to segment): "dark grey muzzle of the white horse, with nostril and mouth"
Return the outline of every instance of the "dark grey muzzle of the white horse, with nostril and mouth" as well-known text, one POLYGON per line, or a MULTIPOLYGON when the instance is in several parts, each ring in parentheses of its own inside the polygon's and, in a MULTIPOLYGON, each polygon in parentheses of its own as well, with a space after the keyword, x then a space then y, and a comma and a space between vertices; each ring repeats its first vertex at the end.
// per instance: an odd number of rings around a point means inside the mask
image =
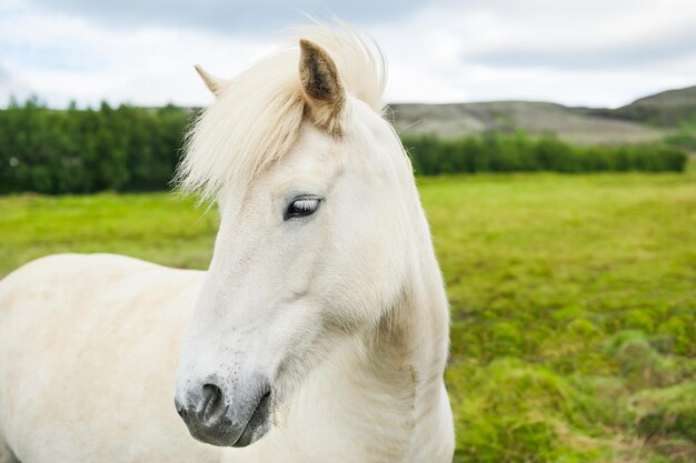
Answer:
POLYGON ((271 389, 267 380, 232 386, 208 381, 175 397, 191 435, 218 446, 245 447, 270 429, 271 389))

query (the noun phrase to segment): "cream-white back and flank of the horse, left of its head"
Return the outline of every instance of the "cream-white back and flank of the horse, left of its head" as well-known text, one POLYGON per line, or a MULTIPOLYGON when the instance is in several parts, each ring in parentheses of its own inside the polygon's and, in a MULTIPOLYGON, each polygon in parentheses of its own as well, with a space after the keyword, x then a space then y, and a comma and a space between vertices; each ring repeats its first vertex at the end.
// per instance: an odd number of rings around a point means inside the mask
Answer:
POLYGON ((171 406, 201 273, 67 254, 0 283, 0 432, 20 461, 205 461, 215 451, 171 406))

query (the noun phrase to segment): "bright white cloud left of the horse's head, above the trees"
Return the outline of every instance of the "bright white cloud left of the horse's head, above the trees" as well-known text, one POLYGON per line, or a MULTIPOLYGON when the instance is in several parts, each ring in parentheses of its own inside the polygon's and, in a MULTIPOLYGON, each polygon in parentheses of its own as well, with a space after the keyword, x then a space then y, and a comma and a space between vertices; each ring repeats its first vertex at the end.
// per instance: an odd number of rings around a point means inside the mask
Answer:
POLYGON ((61 14, 0 20, 0 43, 10 50, 2 66, 23 83, 0 98, 33 92, 52 105, 71 99, 92 105, 101 100, 201 104, 208 94, 195 63, 233 73, 271 48, 264 41, 199 31, 143 28, 123 33, 61 14))

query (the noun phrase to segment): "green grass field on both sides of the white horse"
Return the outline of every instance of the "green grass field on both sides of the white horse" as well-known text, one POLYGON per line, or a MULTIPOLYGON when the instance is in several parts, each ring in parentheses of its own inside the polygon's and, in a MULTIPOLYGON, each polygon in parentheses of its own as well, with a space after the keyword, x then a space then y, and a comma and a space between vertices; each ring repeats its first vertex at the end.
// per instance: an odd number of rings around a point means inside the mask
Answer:
MULTIPOLYGON (((696 461, 696 174, 419 183, 456 461, 696 461)), ((66 251, 202 269, 216 224, 165 193, 0 198, 0 275, 66 251)))

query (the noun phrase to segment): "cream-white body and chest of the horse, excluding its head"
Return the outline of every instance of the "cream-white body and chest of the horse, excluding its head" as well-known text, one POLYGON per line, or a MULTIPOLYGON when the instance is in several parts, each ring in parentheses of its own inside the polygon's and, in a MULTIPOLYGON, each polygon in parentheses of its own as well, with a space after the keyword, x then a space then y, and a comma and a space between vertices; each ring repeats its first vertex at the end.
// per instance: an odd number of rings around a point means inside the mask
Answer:
POLYGON ((29 463, 450 457, 451 417, 441 380, 437 372, 419 378, 405 364, 401 343, 418 334, 390 340, 399 345, 346 342, 297 391, 281 412, 282 425, 256 445, 222 450, 190 439, 171 405, 171 380, 202 278, 203 272, 131 258, 66 254, 31 262, 3 280, 0 436, 17 457, 29 463), (375 350, 381 351, 378 356, 375 350))

